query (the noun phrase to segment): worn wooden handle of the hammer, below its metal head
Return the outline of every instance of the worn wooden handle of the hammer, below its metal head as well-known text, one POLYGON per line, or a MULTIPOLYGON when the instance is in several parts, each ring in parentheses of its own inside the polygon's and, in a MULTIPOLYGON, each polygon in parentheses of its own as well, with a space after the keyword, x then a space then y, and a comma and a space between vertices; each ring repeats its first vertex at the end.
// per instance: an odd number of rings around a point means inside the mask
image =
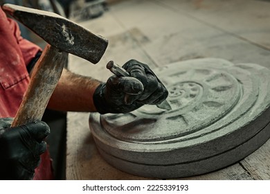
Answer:
POLYGON ((35 64, 30 83, 19 110, 11 124, 12 127, 40 121, 51 95, 62 74, 68 53, 47 45, 35 64))

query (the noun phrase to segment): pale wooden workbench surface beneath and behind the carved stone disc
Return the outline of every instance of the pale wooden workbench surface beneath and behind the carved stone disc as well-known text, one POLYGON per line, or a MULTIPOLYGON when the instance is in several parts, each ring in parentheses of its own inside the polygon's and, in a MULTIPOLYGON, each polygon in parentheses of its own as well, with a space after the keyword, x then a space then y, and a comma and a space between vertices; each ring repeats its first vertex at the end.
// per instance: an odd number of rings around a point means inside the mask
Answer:
MULTIPOLYGON (((255 0, 119 1, 80 25, 109 39, 93 65, 73 55, 69 69, 106 81, 109 60, 134 58, 150 67, 195 58, 223 58, 270 69, 270 2, 255 0)), ((270 97, 269 97, 270 98, 270 97)), ((67 115, 66 179, 153 179, 124 173, 102 159, 89 130, 89 113, 67 115)), ((182 179, 270 179, 270 140, 241 161, 182 179)))

